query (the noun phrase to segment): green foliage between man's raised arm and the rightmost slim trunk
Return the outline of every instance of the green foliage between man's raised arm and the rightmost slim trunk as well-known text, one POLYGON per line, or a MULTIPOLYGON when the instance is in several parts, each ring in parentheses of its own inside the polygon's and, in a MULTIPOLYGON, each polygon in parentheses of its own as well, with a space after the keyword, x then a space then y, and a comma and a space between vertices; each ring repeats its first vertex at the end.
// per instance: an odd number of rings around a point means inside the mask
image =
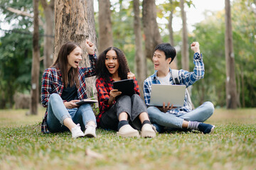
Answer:
MULTIPOLYGON (((212 101, 225 106, 225 28, 222 18, 210 17, 196 25, 189 42, 198 41, 203 53, 205 77, 193 85, 192 100, 196 106, 212 101), (213 95, 215 94, 215 95, 213 95)), ((192 60, 193 52, 190 50, 192 60)), ((193 70, 193 62, 190 69, 193 70)))

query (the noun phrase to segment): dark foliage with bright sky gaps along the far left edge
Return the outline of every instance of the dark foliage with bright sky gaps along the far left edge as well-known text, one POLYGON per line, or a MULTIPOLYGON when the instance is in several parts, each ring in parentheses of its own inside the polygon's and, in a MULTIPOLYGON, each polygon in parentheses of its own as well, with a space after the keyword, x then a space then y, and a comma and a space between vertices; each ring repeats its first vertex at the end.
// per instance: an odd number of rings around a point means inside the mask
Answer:
POLYGON ((31 87, 33 18, 18 16, 7 7, 33 12, 32 1, 1 1, 4 23, 11 24, 0 40, 0 108, 12 108, 14 94, 28 93, 31 87))

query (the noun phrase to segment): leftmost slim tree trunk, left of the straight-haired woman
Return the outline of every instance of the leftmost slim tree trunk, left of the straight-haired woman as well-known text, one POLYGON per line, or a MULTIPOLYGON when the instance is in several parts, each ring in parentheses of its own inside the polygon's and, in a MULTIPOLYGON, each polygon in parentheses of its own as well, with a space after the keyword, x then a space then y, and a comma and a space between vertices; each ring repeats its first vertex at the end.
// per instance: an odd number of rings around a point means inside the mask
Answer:
POLYGON ((39 70, 40 70, 40 51, 39 51, 39 21, 38 21, 38 1, 33 0, 33 60, 31 69, 31 106, 30 114, 38 114, 39 102, 39 70))

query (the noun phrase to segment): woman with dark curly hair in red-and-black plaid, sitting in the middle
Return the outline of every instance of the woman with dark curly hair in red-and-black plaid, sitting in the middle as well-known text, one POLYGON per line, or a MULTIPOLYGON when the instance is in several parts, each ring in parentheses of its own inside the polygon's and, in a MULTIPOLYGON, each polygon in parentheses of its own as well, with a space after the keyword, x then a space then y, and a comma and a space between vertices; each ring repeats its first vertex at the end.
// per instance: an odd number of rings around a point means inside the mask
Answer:
POLYGON ((115 130, 121 137, 139 137, 138 130, 142 130, 142 137, 155 137, 146 106, 139 96, 137 79, 129 72, 124 52, 117 47, 109 47, 102 52, 97 60, 96 75, 100 108, 98 127, 115 130), (113 89, 113 82, 123 79, 134 79, 134 95, 119 96, 122 92, 113 89), (119 98, 116 100, 117 96, 119 98))

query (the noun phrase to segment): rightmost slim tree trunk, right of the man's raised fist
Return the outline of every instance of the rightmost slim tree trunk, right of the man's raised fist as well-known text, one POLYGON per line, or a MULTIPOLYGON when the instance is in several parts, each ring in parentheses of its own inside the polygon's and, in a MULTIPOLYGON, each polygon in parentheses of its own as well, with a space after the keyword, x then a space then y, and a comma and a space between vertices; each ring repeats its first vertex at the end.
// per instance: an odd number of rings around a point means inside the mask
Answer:
POLYGON ((233 33, 230 0, 225 0, 225 62, 226 62, 226 107, 237 108, 237 89, 235 82, 235 55, 233 52, 233 33))

